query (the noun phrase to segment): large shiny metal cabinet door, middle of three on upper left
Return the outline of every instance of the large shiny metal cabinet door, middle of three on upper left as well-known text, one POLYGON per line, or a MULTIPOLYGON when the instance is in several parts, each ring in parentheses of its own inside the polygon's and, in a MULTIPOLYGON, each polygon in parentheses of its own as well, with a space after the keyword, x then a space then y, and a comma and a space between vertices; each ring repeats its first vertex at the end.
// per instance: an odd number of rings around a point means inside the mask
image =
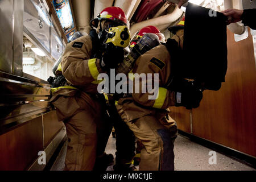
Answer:
POLYGON ((43 5, 37 0, 24 1, 24 28, 50 53, 51 20, 43 5))

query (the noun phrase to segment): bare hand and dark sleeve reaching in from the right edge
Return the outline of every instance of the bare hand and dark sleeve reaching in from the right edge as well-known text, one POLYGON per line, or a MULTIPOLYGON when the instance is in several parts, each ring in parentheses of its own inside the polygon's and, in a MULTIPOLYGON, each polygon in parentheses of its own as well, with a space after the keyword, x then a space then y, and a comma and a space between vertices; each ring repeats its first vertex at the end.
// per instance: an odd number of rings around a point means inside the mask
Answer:
POLYGON ((237 9, 228 9, 222 11, 225 16, 228 16, 228 24, 240 22, 245 24, 245 26, 249 26, 252 29, 256 29, 256 9, 250 10, 237 10, 237 9))

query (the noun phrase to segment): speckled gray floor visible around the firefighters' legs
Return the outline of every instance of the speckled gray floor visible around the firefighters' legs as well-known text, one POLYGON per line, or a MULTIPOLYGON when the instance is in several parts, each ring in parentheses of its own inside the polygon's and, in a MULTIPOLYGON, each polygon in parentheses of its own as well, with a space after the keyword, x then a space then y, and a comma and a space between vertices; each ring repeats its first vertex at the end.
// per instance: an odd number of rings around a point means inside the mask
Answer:
MULTIPOLYGON (((176 171, 255 171, 254 168, 246 166, 228 156, 216 152, 216 164, 209 164, 209 152, 212 151, 207 147, 192 142, 191 140, 177 137, 175 141, 175 170, 176 171)), ((62 171, 64 168, 64 160, 67 152, 67 141, 60 154, 53 164, 51 171, 62 171)), ((110 136, 106 153, 115 156, 115 139, 110 136)), ((138 168, 138 167, 137 167, 138 168)), ((107 171, 113 171, 113 166, 109 166, 107 171)))

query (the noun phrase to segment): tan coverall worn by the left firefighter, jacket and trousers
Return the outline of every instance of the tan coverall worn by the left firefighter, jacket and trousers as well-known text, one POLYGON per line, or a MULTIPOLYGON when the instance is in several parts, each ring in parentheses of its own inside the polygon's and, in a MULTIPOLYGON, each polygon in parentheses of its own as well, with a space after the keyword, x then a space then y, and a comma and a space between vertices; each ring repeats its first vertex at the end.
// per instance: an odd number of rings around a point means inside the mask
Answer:
MULTIPOLYGON (((98 135, 102 135, 106 127, 109 127, 108 122, 104 121, 104 100, 96 96, 97 76, 103 71, 100 60, 91 59, 91 54, 90 36, 82 36, 67 44, 61 69, 68 84, 72 86, 52 89, 50 101, 56 107, 59 121, 64 121, 67 127, 67 170, 93 169, 98 135)), ((98 141, 102 143, 103 152, 107 141, 108 137, 98 141)))

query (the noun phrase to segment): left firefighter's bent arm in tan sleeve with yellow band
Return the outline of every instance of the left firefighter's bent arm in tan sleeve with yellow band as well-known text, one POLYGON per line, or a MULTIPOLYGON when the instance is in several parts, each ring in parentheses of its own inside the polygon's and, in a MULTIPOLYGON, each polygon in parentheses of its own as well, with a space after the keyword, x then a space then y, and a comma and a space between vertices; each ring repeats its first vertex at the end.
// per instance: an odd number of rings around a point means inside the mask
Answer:
POLYGON ((68 43, 61 60, 63 76, 72 85, 84 85, 97 80, 102 73, 100 59, 90 59, 92 41, 82 36, 68 43))

